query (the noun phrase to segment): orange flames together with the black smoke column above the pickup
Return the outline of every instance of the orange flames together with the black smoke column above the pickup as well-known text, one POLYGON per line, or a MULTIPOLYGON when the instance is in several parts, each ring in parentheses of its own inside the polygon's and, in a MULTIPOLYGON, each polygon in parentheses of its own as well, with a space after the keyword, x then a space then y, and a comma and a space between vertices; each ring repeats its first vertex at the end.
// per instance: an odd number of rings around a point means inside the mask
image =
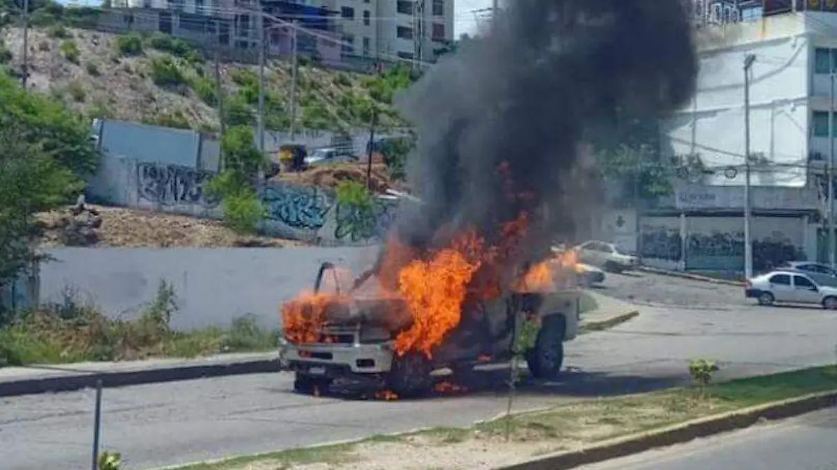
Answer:
POLYGON ((304 294, 283 305, 286 337, 328 342, 326 322, 377 316, 390 320, 398 355, 430 357, 464 330, 490 343, 485 305, 557 289, 572 271, 572 257, 556 262, 549 248, 592 215, 584 149, 594 133, 616 110, 670 114, 691 98, 696 72, 681 0, 511 2, 485 38, 399 100, 419 136, 407 173, 422 202, 403 204, 355 283, 375 274, 377 298, 399 302, 304 294))

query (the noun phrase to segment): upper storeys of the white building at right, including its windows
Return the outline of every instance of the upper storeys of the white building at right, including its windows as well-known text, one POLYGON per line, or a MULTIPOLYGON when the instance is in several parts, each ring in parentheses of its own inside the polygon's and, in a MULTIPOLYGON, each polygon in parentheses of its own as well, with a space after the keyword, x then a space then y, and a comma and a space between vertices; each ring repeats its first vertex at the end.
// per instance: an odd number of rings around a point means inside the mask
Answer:
MULTIPOLYGON (((801 3, 801 2, 800 2, 801 3)), ((663 125, 670 156, 700 156, 712 186, 744 184, 744 60, 750 71, 753 186, 816 186, 828 161, 837 13, 802 11, 704 28, 691 104, 663 125)), ((697 178, 697 176, 696 176, 697 178)))

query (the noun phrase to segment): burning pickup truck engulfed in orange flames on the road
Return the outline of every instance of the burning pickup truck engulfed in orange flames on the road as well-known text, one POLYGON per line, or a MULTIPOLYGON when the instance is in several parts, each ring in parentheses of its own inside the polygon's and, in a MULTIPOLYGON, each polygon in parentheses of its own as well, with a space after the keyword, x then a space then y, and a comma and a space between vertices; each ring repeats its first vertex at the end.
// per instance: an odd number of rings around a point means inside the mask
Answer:
MULTIPOLYGON (((448 271, 456 265, 444 263, 448 271)), ((455 375, 511 360, 516 330, 533 321, 537 339, 526 350, 526 362, 535 377, 554 378, 563 342, 578 333, 581 291, 552 276, 544 282, 546 266, 527 273, 535 288, 518 285, 508 294, 463 304, 455 301, 461 297, 456 282, 441 274, 424 272, 424 284, 416 288, 422 294, 397 295, 381 289, 375 274, 347 282, 343 268, 323 263, 313 294, 283 308, 280 360, 294 371, 295 391, 302 393, 359 388, 421 396, 432 390, 434 370, 449 368, 455 375)))

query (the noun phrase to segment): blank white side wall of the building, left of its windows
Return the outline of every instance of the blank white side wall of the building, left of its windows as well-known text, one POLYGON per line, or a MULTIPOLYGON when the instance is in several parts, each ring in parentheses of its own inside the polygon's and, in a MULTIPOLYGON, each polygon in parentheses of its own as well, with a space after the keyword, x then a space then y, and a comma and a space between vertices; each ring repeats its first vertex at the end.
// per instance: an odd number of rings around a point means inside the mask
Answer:
MULTIPOLYGON (((700 154, 706 166, 742 167, 744 160, 744 72, 755 54, 750 86, 751 151, 775 164, 800 165, 808 156, 808 95, 811 49, 804 13, 718 28, 721 37, 704 43, 697 93, 690 105, 667 120, 671 155, 700 154)), ((730 179, 719 171, 711 185, 742 185, 743 171, 730 179)), ((754 171, 753 185, 804 186, 804 168, 754 171)))

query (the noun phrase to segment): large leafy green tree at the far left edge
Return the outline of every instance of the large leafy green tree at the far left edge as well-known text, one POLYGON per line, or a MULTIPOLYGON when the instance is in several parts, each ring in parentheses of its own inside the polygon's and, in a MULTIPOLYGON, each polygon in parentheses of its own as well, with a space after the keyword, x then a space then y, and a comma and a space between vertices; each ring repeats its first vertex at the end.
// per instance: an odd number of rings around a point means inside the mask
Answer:
POLYGON ((90 127, 0 74, 0 286, 39 259, 35 215, 67 203, 98 165, 90 127))

